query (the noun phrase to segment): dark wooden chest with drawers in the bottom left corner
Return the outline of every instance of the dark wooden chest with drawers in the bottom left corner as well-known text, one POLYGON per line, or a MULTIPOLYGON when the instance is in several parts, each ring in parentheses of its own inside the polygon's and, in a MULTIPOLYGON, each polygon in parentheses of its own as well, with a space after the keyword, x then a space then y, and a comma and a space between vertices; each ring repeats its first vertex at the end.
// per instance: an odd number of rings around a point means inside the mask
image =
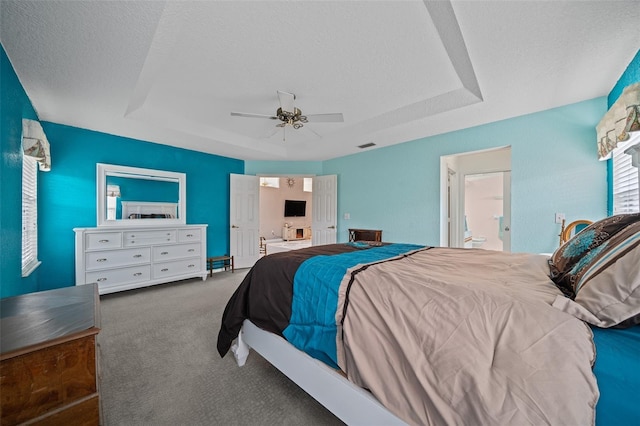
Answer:
POLYGON ((98 286, 0 300, 0 423, 100 424, 98 286))

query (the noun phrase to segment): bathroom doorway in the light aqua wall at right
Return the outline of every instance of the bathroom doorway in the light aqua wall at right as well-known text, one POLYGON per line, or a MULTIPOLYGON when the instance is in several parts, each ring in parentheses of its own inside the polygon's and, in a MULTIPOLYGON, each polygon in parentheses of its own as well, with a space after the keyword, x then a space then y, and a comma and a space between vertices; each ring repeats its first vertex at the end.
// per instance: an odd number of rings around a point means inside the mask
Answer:
POLYGON ((511 250, 511 147, 441 157, 440 244, 511 250))

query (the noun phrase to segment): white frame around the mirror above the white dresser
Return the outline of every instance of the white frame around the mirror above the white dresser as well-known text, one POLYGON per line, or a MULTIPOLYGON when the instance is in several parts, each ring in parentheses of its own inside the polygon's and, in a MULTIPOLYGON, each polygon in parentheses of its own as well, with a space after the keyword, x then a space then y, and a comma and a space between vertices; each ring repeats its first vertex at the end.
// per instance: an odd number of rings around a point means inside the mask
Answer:
POLYGON ((187 223, 187 175, 164 170, 142 169, 97 163, 96 215, 98 226, 165 226, 186 225, 187 223), (107 176, 129 177, 147 180, 169 180, 178 183, 177 219, 107 219, 107 176))

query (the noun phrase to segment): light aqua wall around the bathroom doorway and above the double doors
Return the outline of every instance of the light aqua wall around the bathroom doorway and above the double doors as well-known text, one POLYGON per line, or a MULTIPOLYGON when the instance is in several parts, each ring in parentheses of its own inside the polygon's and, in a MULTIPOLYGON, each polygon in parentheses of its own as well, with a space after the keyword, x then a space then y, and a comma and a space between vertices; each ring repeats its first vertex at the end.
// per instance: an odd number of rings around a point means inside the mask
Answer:
POLYGON ((322 163, 247 162, 247 174, 338 175, 338 241, 348 228, 383 230, 386 241, 440 244, 440 157, 511 146, 512 251, 550 252, 560 225, 606 215, 606 165, 595 125, 606 98, 375 149, 322 163), (282 172, 280 166, 292 167, 282 172), (350 220, 344 220, 344 213, 350 220))

